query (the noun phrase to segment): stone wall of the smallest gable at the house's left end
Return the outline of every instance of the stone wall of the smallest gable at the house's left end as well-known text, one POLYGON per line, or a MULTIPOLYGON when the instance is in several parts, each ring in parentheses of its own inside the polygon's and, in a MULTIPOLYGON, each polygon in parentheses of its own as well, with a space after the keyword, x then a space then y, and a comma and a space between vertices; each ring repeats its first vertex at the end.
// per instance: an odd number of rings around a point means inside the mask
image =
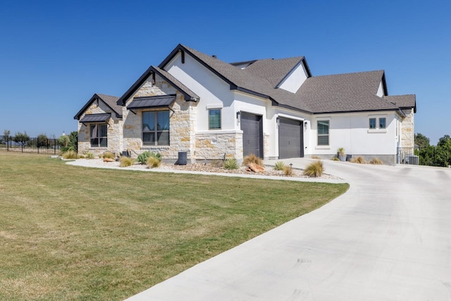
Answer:
MULTIPOLYGON (((112 112, 109 106, 106 106, 101 100, 92 102, 91 106, 82 114, 81 118, 86 114, 99 114, 99 113, 111 113, 111 118, 107 121, 108 123, 108 143, 107 147, 91 147, 91 142, 89 141, 90 124, 84 125, 78 123, 78 154, 85 154, 86 152, 92 152, 96 156, 100 156, 104 152, 113 152, 118 154, 122 145, 122 121, 120 118, 116 117, 116 113, 112 112)), ((80 119, 81 119, 80 118, 80 119)))

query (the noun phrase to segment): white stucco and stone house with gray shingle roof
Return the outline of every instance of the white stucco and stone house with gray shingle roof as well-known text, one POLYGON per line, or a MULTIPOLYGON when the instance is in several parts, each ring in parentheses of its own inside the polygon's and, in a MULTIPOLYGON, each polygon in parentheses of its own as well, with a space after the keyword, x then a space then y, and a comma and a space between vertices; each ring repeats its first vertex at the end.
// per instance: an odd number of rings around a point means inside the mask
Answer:
POLYGON ((78 151, 190 162, 347 154, 396 164, 414 147, 415 95, 389 96, 383 70, 313 76, 303 56, 226 63, 179 44, 121 97, 75 115, 78 151))

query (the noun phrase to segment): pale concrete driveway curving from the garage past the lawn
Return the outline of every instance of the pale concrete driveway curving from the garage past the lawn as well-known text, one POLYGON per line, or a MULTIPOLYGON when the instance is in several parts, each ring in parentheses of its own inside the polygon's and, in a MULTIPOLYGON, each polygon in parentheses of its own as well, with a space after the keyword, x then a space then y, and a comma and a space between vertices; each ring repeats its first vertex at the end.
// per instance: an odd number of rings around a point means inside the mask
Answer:
POLYGON ((451 300, 451 169, 324 164, 345 195, 129 300, 451 300))

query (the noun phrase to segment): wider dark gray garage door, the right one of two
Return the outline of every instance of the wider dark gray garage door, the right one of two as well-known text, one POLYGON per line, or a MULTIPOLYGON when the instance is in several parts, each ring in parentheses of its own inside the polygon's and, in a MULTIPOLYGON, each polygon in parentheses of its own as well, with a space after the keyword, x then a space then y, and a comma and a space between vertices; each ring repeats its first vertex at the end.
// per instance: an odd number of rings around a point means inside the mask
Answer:
POLYGON ((279 158, 304 156, 304 131, 302 121, 279 118, 279 158))

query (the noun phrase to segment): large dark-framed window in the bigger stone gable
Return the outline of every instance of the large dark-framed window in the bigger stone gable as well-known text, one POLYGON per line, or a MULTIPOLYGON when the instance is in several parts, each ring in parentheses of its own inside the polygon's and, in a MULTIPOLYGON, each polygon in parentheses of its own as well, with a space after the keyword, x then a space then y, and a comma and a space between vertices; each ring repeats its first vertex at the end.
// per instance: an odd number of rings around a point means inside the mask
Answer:
POLYGON ((142 144, 169 145, 169 111, 142 112, 142 144))

